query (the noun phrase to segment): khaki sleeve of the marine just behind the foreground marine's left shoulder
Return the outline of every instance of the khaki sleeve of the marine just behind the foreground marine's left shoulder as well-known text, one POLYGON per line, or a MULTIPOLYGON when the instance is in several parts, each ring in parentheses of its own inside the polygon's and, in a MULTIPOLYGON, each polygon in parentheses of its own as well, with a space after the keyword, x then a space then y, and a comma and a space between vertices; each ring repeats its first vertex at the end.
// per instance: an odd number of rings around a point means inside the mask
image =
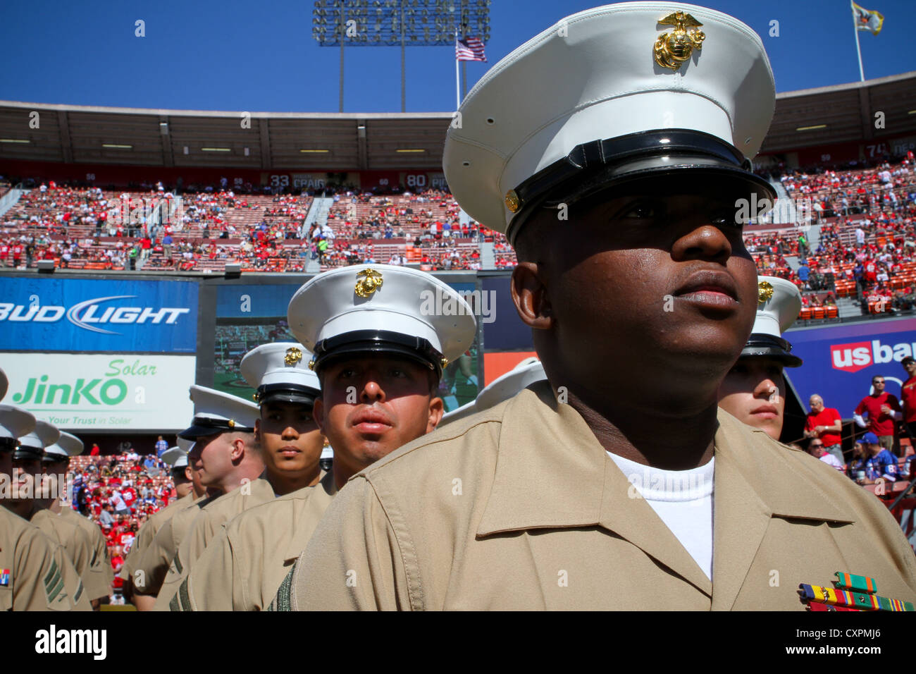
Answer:
POLYGON ((244 610, 235 601, 233 549, 225 527, 194 562, 169 603, 172 611, 244 610))

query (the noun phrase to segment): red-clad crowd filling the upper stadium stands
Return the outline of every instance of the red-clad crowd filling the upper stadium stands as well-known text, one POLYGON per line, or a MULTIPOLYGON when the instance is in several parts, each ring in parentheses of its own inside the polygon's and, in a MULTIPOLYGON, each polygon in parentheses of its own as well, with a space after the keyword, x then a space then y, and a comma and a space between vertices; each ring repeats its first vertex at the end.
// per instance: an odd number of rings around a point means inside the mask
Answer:
MULTIPOLYGON (((758 271, 798 285, 806 308, 834 307, 845 296, 863 311, 916 308, 913 163, 782 173, 789 199, 810 206, 791 227, 747 228, 758 271), (820 227, 815 246, 808 224, 820 227)), ((220 272, 237 261, 243 271, 306 271, 315 261, 321 271, 363 262, 480 270, 485 243, 493 244, 493 267, 516 264, 503 235, 462 219, 451 194, 439 190, 333 193, 326 222, 306 227, 312 197, 305 193, 236 196, 224 186, 178 199, 161 182, 148 187, 39 183, 0 223, 0 265, 55 260, 69 269, 220 272)))

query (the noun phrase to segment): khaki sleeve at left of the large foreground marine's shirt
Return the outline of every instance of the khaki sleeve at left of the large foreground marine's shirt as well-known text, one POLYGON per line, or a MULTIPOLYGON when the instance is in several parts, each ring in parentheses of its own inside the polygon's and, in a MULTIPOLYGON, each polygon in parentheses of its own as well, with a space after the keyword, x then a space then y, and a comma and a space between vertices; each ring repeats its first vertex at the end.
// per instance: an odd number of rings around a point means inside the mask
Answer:
POLYGON ((290 581, 280 587, 280 593, 289 588, 289 602, 278 593, 274 607, 282 610, 289 603, 293 611, 409 610, 405 555, 416 578, 416 554, 406 527, 396 536, 372 485, 357 478, 334 498, 290 581))

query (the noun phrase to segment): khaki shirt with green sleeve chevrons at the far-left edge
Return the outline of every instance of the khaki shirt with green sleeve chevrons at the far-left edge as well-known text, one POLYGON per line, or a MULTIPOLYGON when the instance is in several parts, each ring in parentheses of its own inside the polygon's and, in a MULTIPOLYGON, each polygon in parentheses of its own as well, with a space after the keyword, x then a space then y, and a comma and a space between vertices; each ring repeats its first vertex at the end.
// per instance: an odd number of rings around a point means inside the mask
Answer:
POLYGON ((91 611, 63 547, 0 507, 0 611, 91 611))

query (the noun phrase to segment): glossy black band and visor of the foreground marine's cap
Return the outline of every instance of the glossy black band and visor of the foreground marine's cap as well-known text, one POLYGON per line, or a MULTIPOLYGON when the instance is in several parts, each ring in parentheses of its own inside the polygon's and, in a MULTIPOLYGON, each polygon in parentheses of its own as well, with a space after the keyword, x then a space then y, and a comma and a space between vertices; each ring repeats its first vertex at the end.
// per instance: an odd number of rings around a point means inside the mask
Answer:
POLYGON ((551 197, 570 204, 618 182, 683 169, 727 173, 754 183, 770 201, 776 197, 769 182, 751 171, 750 161, 722 138, 682 128, 639 131, 577 145, 521 182, 513 191, 518 211, 507 228, 509 243, 514 244, 522 224, 551 197))

